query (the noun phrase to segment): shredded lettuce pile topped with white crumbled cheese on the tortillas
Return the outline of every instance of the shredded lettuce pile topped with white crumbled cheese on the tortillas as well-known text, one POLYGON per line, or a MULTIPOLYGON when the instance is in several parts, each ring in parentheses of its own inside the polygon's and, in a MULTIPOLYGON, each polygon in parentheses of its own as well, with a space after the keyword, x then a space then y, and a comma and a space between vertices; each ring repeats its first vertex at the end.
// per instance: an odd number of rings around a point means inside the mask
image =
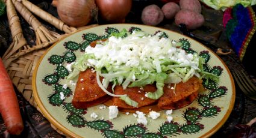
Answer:
POLYGON ((186 82, 193 76, 219 79, 203 71, 204 58, 197 53, 186 53, 180 48, 181 43, 160 38, 160 35, 161 32, 149 35, 142 31, 130 34, 125 29, 113 33, 107 41, 98 41, 95 47, 87 46, 84 54, 72 65, 72 73, 67 79, 73 79, 87 68, 94 68, 99 87, 131 106, 136 106, 136 101, 127 95, 107 91, 108 85, 111 83, 114 91, 116 85, 126 89, 155 83, 157 91, 148 92, 147 97, 157 100, 164 94, 164 83, 186 82), (104 77, 102 82, 100 76, 104 77))

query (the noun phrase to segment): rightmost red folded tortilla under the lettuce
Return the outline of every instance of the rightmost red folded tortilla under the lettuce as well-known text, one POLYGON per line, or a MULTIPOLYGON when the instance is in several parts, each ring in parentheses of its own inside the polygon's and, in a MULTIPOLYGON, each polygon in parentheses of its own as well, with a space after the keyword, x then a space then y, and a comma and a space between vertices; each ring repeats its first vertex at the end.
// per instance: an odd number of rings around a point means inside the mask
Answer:
POLYGON ((180 109, 192 103, 198 96, 202 81, 192 77, 187 82, 174 85, 164 85, 164 94, 158 100, 157 106, 161 109, 180 109))

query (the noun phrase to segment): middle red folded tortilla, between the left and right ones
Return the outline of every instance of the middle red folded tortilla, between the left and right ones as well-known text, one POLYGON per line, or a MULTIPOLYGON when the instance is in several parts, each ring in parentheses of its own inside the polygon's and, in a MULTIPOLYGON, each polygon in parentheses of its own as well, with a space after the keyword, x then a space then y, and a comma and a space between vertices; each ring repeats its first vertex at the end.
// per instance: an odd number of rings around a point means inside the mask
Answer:
MULTIPOLYGON (((126 88, 123 89, 122 86, 116 86, 114 88, 114 94, 122 95, 127 94, 128 97, 131 98, 131 100, 134 100, 138 103, 138 107, 142 106, 148 106, 152 103, 155 103, 156 100, 152 100, 150 98, 145 97, 145 92, 154 92, 157 91, 157 88, 155 88, 154 85, 146 85, 143 87, 143 90, 140 89, 140 87, 133 87, 133 88, 126 88)), ((125 103, 125 101, 120 100, 119 97, 113 97, 113 105, 118 106, 119 108, 124 109, 134 109, 133 106, 129 106, 125 103)))

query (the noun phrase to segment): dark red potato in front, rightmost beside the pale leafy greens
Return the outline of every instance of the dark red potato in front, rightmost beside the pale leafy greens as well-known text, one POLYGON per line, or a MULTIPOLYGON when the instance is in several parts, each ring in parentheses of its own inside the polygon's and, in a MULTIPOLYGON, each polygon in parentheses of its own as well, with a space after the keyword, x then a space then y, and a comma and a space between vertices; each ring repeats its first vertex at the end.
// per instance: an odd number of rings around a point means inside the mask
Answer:
POLYGON ((204 16, 191 10, 180 10, 175 16, 176 25, 184 23, 187 29, 196 29, 204 23, 204 16))

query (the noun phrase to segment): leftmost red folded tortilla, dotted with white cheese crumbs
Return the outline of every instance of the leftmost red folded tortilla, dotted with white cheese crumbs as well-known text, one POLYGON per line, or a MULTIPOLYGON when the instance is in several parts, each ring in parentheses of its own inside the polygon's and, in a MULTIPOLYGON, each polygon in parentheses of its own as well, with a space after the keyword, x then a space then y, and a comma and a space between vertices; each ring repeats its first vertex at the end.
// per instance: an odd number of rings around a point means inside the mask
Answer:
MULTIPOLYGON (((102 77, 101 77, 102 80, 102 77)), ((108 91, 111 91, 111 86, 108 91)), ((99 88, 96 73, 88 68, 80 72, 76 82, 75 94, 73 95, 72 104, 75 108, 86 109, 87 107, 96 106, 104 103, 111 97, 99 88)))

